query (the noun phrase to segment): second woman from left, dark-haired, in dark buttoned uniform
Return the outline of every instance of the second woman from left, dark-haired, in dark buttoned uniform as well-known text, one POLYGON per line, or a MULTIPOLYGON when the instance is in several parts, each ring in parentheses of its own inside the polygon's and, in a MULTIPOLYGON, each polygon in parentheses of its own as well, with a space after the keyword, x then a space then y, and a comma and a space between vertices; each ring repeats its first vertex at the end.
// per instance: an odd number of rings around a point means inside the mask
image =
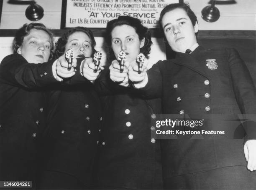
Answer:
POLYGON ((43 189, 86 189, 92 186, 93 165, 101 122, 100 100, 92 75, 87 75, 84 58, 92 60, 96 42, 83 27, 64 33, 56 42, 55 57, 72 49, 77 73, 49 92, 45 164, 41 176, 43 189), (80 72, 79 72, 80 70, 80 72), (83 72, 85 78, 80 74, 83 72))

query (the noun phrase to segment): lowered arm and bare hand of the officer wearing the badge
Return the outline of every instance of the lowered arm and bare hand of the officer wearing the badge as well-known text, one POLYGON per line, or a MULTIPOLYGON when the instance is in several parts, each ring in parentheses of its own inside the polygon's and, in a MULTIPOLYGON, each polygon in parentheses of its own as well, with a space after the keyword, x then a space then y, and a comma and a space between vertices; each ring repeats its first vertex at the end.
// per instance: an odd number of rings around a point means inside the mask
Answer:
POLYGON ((248 170, 256 170, 256 88, 245 63, 235 49, 229 50, 229 66, 236 100, 244 119, 246 130, 244 153, 248 170), (253 114, 253 115, 252 115, 253 114))

